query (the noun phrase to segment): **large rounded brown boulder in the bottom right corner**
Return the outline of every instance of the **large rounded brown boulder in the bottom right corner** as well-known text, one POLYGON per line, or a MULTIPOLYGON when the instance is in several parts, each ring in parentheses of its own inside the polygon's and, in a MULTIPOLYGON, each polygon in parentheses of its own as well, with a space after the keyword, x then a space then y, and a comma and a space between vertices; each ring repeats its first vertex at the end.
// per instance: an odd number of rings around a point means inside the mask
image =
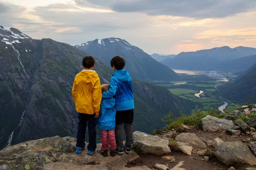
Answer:
POLYGON ((224 142, 216 147, 216 158, 223 164, 250 164, 256 165, 256 157, 250 149, 240 142, 224 142))

